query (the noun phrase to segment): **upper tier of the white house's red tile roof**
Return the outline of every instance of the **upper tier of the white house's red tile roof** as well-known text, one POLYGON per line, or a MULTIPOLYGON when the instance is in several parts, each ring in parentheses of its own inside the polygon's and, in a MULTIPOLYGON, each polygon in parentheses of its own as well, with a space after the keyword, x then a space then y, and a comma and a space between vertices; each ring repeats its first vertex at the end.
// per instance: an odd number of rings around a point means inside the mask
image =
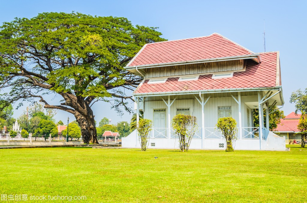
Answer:
POLYGON ((213 33, 209 36, 146 44, 128 66, 171 63, 254 54, 250 50, 213 33))

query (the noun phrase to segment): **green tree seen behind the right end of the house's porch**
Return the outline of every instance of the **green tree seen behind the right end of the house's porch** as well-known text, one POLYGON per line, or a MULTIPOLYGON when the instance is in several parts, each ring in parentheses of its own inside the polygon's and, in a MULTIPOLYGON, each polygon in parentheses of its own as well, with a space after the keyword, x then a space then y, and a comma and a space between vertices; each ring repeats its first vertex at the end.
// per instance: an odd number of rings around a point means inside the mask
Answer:
MULTIPOLYGON (((277 125, 280 123, 280 120, 285 118, 284 111, 277 110, 277 106, 274 106, 272 111, 274 112, 269 114, 270 131, 274 131, 277 128, 277 125)), ((259 109, 254 109, 253 119, 254 127, 259 127, 259 109)), ((263 121, 264 126, 266 127, 266 109, 263 109, 263 121)))

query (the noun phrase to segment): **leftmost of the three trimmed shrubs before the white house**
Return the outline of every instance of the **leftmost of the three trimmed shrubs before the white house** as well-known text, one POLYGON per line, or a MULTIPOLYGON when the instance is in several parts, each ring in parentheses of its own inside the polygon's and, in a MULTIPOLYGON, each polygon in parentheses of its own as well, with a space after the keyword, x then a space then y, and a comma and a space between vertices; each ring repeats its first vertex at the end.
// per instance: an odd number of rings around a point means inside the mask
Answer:
POLYGON ((138 136, 140 138, 140 144, 142 151, 146 151, 149 144, 149 133, 151 131, 153 122, 149 119, 141 119, 138 122, 138 136))

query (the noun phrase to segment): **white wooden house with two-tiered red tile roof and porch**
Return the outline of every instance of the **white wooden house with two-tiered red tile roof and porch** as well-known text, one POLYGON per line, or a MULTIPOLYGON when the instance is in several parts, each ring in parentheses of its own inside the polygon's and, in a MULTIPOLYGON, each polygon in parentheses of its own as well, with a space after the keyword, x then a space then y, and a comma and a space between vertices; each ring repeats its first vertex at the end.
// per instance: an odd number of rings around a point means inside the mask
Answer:
MULTIPOLYGON (((254 53, 213 33, 145 44, 126 69, 144 77, 133 96, 137 112, 153 121, 149 148, 179 147, 171 120, 183 113, 198 120, 190 148, 225 148, 216 123, 231 116, 238 128, 235 149, 285 150, 285 138, 263 121, 264 108, 284 104, 279 52, 254 53), (253 109, 260 109, 260 130, 253 126, 253 109)), ((122 146, 139 147, 137 132, 122 138, 122 146)))

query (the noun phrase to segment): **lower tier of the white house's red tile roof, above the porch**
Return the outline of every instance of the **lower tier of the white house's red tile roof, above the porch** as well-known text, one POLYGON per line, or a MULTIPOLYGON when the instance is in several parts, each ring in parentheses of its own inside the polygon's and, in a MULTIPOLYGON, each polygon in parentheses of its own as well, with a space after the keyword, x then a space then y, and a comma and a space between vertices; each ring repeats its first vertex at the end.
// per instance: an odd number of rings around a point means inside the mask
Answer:
POLYGON ((261 63, 248 60, 246 71, 234 72, 231 78, 212 79, 209 74, 191 81, 178 81, 176 77, 164 83, 148 84, 149 80, 145 80, 134 93, 275 87, 277 52, 260 53, 260 56, 261 63))

